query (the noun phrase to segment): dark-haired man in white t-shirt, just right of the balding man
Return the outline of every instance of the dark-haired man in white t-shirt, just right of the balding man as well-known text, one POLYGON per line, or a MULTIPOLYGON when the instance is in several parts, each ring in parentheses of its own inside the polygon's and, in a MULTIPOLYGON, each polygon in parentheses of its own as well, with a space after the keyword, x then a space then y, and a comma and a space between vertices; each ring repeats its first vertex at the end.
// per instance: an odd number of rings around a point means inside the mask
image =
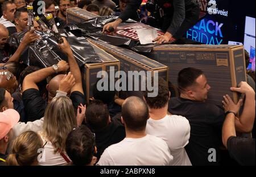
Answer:
POLYGON ((191 162, 184 148, 190 137, 189 121, 183 116, 167 114, 170 96, 168 83, 163 78, 159 78, 158 81, 158 96, 148 97, 148 91, 144 92, 144 100, 150 114, 146 133, 167 142, 174 156, 174 161, 170 165, 190 166, 191 162))

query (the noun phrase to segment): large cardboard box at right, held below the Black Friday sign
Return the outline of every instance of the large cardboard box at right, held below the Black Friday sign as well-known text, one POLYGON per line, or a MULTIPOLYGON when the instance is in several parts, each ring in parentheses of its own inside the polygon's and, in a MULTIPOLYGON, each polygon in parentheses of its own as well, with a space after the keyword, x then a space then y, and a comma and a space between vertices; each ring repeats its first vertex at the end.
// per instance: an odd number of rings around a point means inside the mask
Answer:
POLYGON ((160 45, 148 57, 169 67, 169 80, 177 85, 177 74, 184 68, 204 71, 211 87, 208 100, 222 105, 225 94, 238 95, 230 91, 241 81, 246 81, 245 54, 242 45, 160 45))

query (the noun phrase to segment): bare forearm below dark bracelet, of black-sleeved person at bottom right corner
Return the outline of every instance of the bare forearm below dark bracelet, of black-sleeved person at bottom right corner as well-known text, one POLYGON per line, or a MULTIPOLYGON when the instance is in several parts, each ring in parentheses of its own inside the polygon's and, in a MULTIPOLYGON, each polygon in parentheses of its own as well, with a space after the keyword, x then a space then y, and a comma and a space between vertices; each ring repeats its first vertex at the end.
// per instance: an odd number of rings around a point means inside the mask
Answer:
POLYGON ((222 127, 222 142, 225 147, 227 147, 227 141, 230 136, 236 136, 236 128, 234 126, 235 124, 236 116, 233 113, 229 113, 226 116, 226 119, 224 121, 223 127, 222 127))

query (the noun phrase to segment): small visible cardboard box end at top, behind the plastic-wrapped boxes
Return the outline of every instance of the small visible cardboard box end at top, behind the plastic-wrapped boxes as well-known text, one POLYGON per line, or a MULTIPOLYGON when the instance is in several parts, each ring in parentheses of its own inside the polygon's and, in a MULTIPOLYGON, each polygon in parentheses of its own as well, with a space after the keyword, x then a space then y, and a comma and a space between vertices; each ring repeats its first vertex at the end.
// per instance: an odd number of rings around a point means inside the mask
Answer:
POLYGON ((67 23, 78 24, 88 19, 96 18, 98 15, 79 7, 71 7, 67 11, 67 23))

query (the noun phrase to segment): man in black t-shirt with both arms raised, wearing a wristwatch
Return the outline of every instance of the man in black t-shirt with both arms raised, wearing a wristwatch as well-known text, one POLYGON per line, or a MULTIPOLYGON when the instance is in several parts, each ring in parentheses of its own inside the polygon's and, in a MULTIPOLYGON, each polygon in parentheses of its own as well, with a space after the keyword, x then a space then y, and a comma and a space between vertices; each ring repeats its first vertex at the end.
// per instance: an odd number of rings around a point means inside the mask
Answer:
MULTIPOLYGON (((70 98, 73 106, 75 109, 77 109, 80 104, 85 105, 85 96, 84 91, 82 90, 82 79, 79 66, 77 65, 67 40, 63 40, 64 44, 59 45, 59 47, 65 54, 67 54, 68 63, 65 61, 60 61, 57 65, 40 69, 34 73, 28 74, 24 78, 22 84, 22 99, 24 102, 26 115, 28 115, 28 121, 34 121, 42 118, 46 109, 47 103, 43 99, 36 83, 43 81, 52 74, 59 73, 60 71, 67 71, 69 67, 73 77, 75 78, 75 85, 71 88, 70 92, 70 98)), ((70 74, 68 74, 68 76, 70 74)), ((63 79, 63 77, 64 75, 57 75, 55 78, 53 78, 49 85, 47 85, 48 103, 51 102, 53 97, 55 97, 56 90, 59 88, 60 81, 63 79)))

